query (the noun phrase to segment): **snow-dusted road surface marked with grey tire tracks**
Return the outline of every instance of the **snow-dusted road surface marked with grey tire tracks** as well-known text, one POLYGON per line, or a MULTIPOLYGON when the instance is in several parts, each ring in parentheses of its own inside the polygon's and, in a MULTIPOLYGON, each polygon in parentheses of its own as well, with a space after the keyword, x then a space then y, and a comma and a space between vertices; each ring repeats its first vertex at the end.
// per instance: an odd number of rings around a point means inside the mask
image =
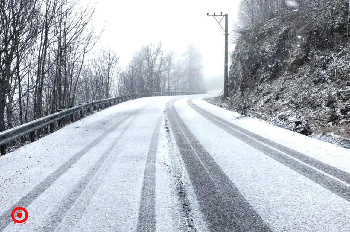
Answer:
POLYGON ((0 231, 350 231, 349 150, 207 96, 127 101, 0 157, 0 231))

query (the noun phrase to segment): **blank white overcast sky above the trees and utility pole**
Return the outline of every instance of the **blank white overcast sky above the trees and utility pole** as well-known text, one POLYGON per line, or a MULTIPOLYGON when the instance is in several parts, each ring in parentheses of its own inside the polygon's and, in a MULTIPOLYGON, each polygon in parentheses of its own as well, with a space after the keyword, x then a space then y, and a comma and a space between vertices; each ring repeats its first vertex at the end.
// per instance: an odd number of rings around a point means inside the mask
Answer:
MULTIPOLYGON (((82 0, 82 3, 88 0, 82 0)), ((212 14, 228 14, 229 33, 239 0, 91 0, 96 5, 94 26, 105 29, 97 48, 110 46, 120 56, 123 67, 135 51, 147 43, 162 41, 166 50, 180 56, 189 43, 202 52, 205 78, 224 73, 224 31, 212 14)), ((221 22, 224 28, 224 20, 221 22)), ((229 52, 233 49, 229 37, 229 52)), ((229 59, 230 60, 230 59, 229 59)), ((229 61, 230 62, 230 61, 229 61)))

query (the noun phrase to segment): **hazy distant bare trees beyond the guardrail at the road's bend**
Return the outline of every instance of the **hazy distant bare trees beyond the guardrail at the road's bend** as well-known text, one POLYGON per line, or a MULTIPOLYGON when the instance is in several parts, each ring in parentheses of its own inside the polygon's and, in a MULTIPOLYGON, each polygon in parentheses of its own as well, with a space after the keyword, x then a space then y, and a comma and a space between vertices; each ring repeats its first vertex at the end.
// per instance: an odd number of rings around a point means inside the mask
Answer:
POLYGON ((162 43, 147 44, 135 52, 118 78, 120 94, 203 90, 203 61, 200 50, 187 46, 175 61, 173 51, 165 51, 162 43))

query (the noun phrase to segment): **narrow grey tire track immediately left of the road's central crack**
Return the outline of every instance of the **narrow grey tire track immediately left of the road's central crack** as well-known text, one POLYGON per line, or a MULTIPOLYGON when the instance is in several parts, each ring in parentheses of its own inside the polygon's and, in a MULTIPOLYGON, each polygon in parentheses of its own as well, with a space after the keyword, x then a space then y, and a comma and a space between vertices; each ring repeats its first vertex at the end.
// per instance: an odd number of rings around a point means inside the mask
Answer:
POLYGON ((138 232, 155 231, 155 166, 156 155, 158 148, 158 139, 160 132, 160 125, 163 116, 161 115, 157 121, 156 127, 151 139, 151 145, 148 149, 146 158, 146 167, 144 172, 144 181, 142 183, 140 208, 137 222, 138 232))

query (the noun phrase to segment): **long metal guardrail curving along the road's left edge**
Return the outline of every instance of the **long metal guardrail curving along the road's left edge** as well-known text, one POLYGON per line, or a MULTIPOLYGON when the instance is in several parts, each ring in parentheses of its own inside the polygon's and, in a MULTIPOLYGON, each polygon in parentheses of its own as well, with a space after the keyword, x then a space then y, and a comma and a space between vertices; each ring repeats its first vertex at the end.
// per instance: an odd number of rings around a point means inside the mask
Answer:
POLYGON ((22 124, 20 126, 13 127, 11 129, 8 129, 6 131, 0 132, 0 146, 5 146, 7 143, 12 142, 18 138, 21 138, 22 136, 25 136, 29 134, 30 141, 35 141, 35 132, 38 129, 41 129, 45 126, 50 126, 50 133, 55 131, 56 125, 55 122, 58 120, 64 120, 68 116, 71 117, 71 121, 74 121, 74 115, 75 113, 80 112, 80 118, 83 118, 84 116, 84 110, 87 110, 89 113, 91 113, 94 109, 96 110, 97 106, 105 105, 107 107, 107 104, 109 106, 116 105, 118 103, 122 103, 124 101, 136 99, 136 98, 142 98, 142 97, 152 97, 152 96, 178 96, 178 95, 191 95, 191 94, 201 94, 204 92, 154 92, 154 93, 135 93, 135 94, 128 94, 124 96, 114 97, 114 98, 107 98, 102 100, 96 100, 85 104, 80 104, 78 106, 72 106, 71 108, 60 110, 56 113, 49 114, 45 117, 27 122, 26 124, 22 124))

